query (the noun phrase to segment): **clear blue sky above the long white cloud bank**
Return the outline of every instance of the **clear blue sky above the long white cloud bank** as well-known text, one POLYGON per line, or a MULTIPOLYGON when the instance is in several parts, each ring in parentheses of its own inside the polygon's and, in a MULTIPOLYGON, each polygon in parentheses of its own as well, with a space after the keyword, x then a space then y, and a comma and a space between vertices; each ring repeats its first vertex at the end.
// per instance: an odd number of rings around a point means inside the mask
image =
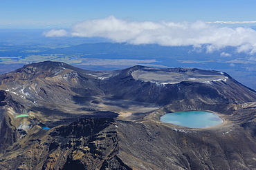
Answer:
POLYGON ((254 0, 0 0, 1 28, 71 28, 114 16, 134 21, 256 21, 254 0))

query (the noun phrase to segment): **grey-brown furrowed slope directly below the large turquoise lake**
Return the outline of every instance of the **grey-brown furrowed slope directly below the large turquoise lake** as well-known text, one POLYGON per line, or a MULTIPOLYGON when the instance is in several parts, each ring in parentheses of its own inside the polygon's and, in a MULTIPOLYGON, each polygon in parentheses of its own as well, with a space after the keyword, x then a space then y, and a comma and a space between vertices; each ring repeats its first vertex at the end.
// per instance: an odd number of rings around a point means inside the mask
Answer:
POLYGON ((132 169, 255 169, 253 125, 185 129, 151 121, 120 123, 118 131, 125 133, 119 136, 118 156, 132 169))

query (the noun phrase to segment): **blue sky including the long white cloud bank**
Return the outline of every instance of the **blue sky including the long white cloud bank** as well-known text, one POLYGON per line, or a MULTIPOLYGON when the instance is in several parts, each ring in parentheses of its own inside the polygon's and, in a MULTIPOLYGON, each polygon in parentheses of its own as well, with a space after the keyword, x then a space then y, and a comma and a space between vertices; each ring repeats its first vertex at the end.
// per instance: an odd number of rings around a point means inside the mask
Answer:
POLYGON ((156 43, 200 48, 207 44, 208 52, 232 46, 237 47, 237 52, 256 54, 255 0, 0 2, 0 29, 41 28, 47 37, 102 37, 137 45, 156 43), (238 23, 234 24, 235 21, 238 23))

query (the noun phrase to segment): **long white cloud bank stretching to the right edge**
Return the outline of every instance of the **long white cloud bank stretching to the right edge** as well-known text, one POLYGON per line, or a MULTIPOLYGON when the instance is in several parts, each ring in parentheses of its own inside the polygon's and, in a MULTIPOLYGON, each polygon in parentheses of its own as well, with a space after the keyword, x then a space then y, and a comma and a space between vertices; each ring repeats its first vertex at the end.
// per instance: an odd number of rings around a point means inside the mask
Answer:
POLYGON ((196 22, 128 21, 110 16, 75 23, 71 32, 51 30, 45 36, 102 37, 118 43, 158 44, 165 46, 207 47, 208 52, 223 47, 237 47, 237 52, 256 52, 256 31, 251 28, 228 28, 196 22))

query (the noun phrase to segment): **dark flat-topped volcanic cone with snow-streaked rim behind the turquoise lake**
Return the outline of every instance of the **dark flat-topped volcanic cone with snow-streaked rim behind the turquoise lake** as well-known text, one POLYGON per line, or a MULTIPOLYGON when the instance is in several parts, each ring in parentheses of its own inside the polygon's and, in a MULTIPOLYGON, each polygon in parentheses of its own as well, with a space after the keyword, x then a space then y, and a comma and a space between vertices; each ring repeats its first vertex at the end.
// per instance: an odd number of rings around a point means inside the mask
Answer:
POLYGON ((136 66, 107 78, 102 87, 104 93, 113 99, 158 105, 183 99, 199 99, 208 103, 246 103, 256 98, 253 89, 237 83, 228 74, 197 69, 166 70, 136 66), (158 78, 161 74, 165 75, 163 79, 158 78))

